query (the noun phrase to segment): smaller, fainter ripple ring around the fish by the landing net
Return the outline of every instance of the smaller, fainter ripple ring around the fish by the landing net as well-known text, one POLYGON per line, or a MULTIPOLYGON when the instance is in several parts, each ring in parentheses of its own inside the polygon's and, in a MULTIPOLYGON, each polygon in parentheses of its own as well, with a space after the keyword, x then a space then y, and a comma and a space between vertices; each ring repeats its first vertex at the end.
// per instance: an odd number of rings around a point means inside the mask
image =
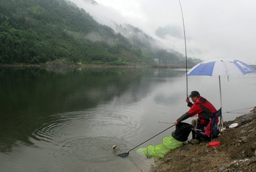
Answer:
POLYGON ((113 161, 118 154, 126 151, 123 140, 108 137, 78 138, 64 144, 63 149, 88 162, 113 161), (112 149, 113 145, 116 149, 112 149))

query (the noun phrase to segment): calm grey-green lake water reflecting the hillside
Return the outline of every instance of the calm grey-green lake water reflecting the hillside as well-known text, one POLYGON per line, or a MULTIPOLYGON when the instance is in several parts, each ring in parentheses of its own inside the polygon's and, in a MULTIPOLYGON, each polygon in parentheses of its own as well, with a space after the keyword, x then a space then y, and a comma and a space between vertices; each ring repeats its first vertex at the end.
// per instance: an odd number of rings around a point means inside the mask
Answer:
MULTIPOLYGON (((188 110, 185 69, 0 68, 0 171, 147 171, 127 152, 188 110), (116 150, 112 146, 116 145, 116 150)), ((256 106, 256 74, 221 76, 224 120, 256 106)), ((218 109, 218 77, 188 77, 218 109)), ((192 118, 185 122, 190 123, 192 118)), ((174 127, 149 140, 161 143, 174 127)))

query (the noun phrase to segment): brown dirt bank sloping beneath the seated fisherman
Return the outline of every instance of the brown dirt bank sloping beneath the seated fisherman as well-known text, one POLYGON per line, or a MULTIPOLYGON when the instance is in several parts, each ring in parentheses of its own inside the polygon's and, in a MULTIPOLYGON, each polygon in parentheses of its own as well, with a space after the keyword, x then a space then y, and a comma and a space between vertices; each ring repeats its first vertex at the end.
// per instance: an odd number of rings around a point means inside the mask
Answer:
POLYGON ((256 171, 256 110, 233 121, 224 122, 226 129, 218 138, 220 146, 209 147, 207 141, 199 144, 187 141, 179 148, 168 152, 164 158, 155 159, 151 172, 170 171, 256 171), (242 123, 243 120, 253 119, 242 123), (236 128, 230 124, 239 123, 236 128))

